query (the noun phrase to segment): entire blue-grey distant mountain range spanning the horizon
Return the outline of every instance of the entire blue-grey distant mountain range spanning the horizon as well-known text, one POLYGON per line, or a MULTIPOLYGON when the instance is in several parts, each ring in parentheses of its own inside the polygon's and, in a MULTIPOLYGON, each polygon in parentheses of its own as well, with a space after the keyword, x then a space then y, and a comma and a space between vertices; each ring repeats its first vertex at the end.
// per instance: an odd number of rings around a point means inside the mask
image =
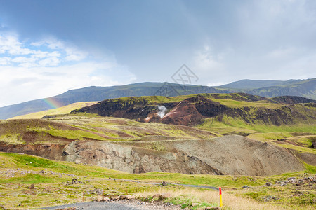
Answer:
POLYGON ((66 106, 75 102, 93 102, 119 97, 162 95, 173 97, 197 93, 246 92, 262 97, 299 96, 316 99, 316 78, 308 80, 239 80, 228 85, 209 87, 172 83, 136 83, 112 87, 84 87, 55 97, 37 99, 0 108, 0 119, 66 106))

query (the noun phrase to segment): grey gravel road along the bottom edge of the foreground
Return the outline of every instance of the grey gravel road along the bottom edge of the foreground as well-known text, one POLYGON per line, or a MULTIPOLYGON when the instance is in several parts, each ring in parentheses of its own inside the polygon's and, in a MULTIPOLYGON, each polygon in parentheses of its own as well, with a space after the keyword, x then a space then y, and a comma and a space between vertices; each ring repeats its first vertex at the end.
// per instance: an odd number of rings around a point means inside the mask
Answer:
POLYGON ((56 207, 46 207, 43 209, 67 209, 74 208, 76 210, 92 210, 92 209, 107 209, 107 210, 175 210, 181 209, 171 203, 163 202, 140 202, 138 200, 121 200, 116 202, 83 202, 76 204, 67 204, 56 207))

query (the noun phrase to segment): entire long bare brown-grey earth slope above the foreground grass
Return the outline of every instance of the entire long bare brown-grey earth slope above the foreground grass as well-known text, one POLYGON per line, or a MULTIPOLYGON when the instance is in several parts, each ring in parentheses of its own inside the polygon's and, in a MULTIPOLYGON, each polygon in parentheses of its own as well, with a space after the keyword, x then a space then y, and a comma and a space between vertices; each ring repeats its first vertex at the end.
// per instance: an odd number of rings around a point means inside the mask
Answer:
POLYGON ((214 139, 150 142, 72 141, 7 145, 0 151, 99 165, 131 173, 237 174, 270 176, 304 169, 285 148, 232 135, 214 139))

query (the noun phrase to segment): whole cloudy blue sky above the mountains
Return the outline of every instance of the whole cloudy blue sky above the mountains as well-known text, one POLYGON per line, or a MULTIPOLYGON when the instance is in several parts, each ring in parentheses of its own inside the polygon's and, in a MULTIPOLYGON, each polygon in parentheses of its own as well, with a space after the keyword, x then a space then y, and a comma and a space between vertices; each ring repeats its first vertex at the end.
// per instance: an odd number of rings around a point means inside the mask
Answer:
POLYGON ((0 106, 87 86, 316 77, 314 0, 0 0, 0 106))

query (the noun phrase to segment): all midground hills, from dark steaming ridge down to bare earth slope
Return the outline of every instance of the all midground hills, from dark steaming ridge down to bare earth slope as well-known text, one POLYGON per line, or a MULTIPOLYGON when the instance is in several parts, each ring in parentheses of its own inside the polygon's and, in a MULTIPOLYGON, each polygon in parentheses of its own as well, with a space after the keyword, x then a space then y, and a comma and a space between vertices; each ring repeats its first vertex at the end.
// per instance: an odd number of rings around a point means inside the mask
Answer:
POLYGON ((249 94, 108 99, 44 119, 2 120, 0 151, 131 173, 297 172, 316 165, 316 106, 301 102, 249 94))

